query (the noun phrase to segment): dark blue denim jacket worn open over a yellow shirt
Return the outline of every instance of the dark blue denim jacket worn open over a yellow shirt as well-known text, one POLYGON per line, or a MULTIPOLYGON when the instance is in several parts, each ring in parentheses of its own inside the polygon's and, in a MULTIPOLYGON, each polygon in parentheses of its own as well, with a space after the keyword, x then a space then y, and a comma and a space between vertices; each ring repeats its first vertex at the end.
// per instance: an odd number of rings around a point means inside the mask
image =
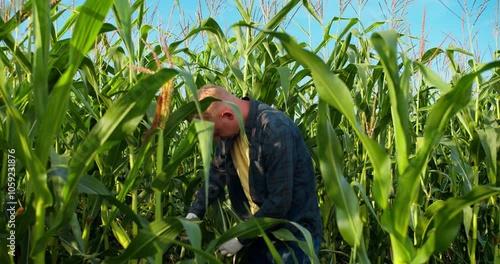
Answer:
MULTIPOLYGON (((249 186, 259 210, 253 217, 270 217, 296 222, 321 239, 322 222, 318 207, 312 158, 296 124, 283 112, 260 101, 250 100, 245 133, 250 143, 249 186)), ((196 193, 190 213, 203 217, 205 198, 211 204, 228 186, 234 210, 244 219, 248 200, 237 175, 230 149, 233 140, 220 141, 210 169, 208 195, 205 186, 196 193)), ((293 225, 283 227, 302 237, 293 225)))

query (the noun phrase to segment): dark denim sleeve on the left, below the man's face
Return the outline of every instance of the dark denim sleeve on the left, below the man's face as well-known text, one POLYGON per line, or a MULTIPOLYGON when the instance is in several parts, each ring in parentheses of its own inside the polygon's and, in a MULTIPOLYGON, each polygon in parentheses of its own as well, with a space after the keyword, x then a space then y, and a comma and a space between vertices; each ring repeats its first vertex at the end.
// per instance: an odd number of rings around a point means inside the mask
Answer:
POLYGON ((221 192, 224 192, 224 187, 228 183, 228 175, 225 170, 225 155, 223 155, 223 143, 219 143, 215 153, 215 158, 210 166, 208 193, 206 192, 207 183, 203 182, 201 188, 196 192, 194 201, 189 208, 189 213, 193 213, 199 218, 203 218, 207 206, 212 204, 221 192))

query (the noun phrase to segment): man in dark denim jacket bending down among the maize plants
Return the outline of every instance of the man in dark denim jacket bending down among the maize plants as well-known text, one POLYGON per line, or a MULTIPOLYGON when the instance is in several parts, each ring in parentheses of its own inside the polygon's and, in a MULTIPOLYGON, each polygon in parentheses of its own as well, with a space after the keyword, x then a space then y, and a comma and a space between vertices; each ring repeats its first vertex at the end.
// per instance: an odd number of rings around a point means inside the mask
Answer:
MULTIPOLYGON (((213 102, 203 113, 204 120, 214 123, 218 145, 210 169, 208 194, 202 186, 186 218, 203 217, 206 198, 211 204, 227 185, 231 205, 240 217, 269 217, 298 223, 311 233, 317 254, 322 223, 316 178, 309 150, 296 124, 275 108, 247 97, 237 98, 219 86, 200 88, 198 100, 206 97, 221 100, 213 102), (244 133, 230 103, 241 113, 244 133)), ((304 240, 292 224, 281 227, 304 240)), ((294 259, 309 263, 309 257, 295 242, 278 241, 270 233, 268 236, 285 263, 294 263, 294 259)), ((249 263, 274 263, 262 238, 233 238, 219 250, 230 257, 244 246, 248 247, 249 263)))

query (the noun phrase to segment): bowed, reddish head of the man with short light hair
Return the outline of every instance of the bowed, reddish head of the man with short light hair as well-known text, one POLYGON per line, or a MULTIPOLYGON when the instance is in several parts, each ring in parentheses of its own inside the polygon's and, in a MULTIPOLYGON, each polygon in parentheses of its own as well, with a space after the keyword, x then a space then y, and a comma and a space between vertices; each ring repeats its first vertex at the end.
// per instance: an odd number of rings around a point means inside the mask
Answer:
MULTIPOLYGON (((242 114, 243 120, 246 120, 250 102, 241 100, 224 88, 208 84, 198 90, 198 100, 206 97, 214 97, 221 101, 213 102, 203 112, 203 119, 214 123, 214 139, 232 138, 240 133, 238 118, 234 109, 227 102, 234 103, 242 114)), ((195 116, 195 118, 199 118, 195 116)))

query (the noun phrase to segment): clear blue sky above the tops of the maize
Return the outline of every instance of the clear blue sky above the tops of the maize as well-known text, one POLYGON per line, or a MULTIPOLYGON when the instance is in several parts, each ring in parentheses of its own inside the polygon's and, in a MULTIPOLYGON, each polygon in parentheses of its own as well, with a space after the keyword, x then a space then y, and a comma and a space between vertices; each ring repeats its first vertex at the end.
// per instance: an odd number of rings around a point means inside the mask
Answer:
MULTIPOLYGON (((240 1, 249 2, 248 0, 240 1)), ((403 16, 405 22, 400 24, 407 27, 407 32, 420 38, 422 36, 422 18, 425 9, 426 19, 424 38, 428 41, 426 43, 425 50, 439 45, 442 45, 444 48, 449 46, 458 46, 468 51, 474 50, 476 56, 479 55, 482 61, 490 61, 492 60, 493 51, 499 49, 499 33, 498 30, 496 32, 494 30, 495 27, 498 26, 498 22, 495 23, 495 21, 498 20, 499 1, 500 0, 414 0, 410 1, 411 3, 406 6, 403 16), (476 20, 480 10, 482 10, 480 5, 483 4, 483 2, 486 3, 486 8, 484 8, 481 15, 476 20), (467 12, 464 10, 467 10, 467 12), (469 14, 469 22, 467 22, 467 16, 465 16, 466 13, 469 14), (465 24, 462 23, 462 18, 465 19, 465 24), (469 29, 467 28, 468 25, 471 26, 470 32, 474 36, 472 46, 470 42, 471 38, 469 35, 469 29)), ((229 30, 230 25, 241 19, 234 1, 232 0, 149 0, 147 3, 151 9, 158 6, 159 12, 154 15, 153 19, 166 23, 169 20, 172 5, 176 2, 179 3, 184 12, 184 19, 186 19, 186 21, 191 21, 191 25, 193 25, 194 21, 197 20, 197 10, 200 9, 199 3, 201 3, 203 18, 209 17, 209 8, 207 8, 206 4, 207 2, 222 4, 218 9, 217 15, 213 18, 221 27, 228 29, 228 34, 232 33, 231 30, 229 30)), ((260 2, 269 3, 273 1, 255 0, 257 6, 260 2)), ((312 0, 312 2, 317 1, 312 0)), ((324 3, 323 14, 324 23, 326 24, 332 17, 340 15, 340 2, 345 4, 348 1, 323 0, 322 2, 324 3)), ((383 21, 384 17, 389 15, 386 3, 390 4, 391 2, 392 0, 352 0, 351 5, 345 8, 342 17, 359 17, 363 26, 368 27, 374 21, 383 21), (359 1, 366 3, 361 12, 357 10, 359 7, 357 3, 359 1)), ((400 3, 398 7, 402 7, 401 3, 406 1, 399 0, 397 2, 400 3)), ((172 27, 179 19, 179 14, 179 9, 176 8, 175 12, 172 14, 170 22, 172 27)), ((384 28, 387 28, 388 26, 389 25, 387 24, 384 28)), ((339 25, 338 27, 339 29, 343 29, 342 25, 339 25)), ((293 18, 293 22, 286 28, 286 32, 295 36, 299 41, 311 43, 312 46, 315 46, 315 43, 319 43, 323 37, 321 25, 308 16, 303 7, 299 8, 293 18), (308 36, 303 32, 303 30, 300 29, 300 27, 306 31, 314 32, 314 34, 310 34, 310 36, 308 36)), ((335 27, 332 27, 332 31, 330 33, 336 33, 335 27)), ((415 40, 414 44, 418 44, 418 40, 415 40)))

